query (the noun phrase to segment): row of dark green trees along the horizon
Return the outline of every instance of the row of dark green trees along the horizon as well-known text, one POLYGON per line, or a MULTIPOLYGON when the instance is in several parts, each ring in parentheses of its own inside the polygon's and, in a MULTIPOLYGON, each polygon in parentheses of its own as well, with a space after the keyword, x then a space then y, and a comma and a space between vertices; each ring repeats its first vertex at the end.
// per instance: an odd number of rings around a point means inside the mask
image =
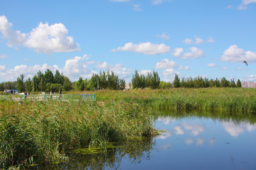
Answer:
MULTIPOLYGON (((57 69, 55 75, 49 69, 45 73, 40 70, 32 80, 30 77, 27 80, 24 80, 24 74, 21 74, 17 77, 16 81, 13 82, 2 82, 0 83, 0 91, 4 89, 18 89, 19 92, 32 92, 34 85, 34 91, 41 92, 50 92, 53 93, 61 91, 69 91, 71 89, 83 91, 83 90, 97 90, 97 89, 110 89, 110 90, 124 90, 126 87, 125 79, 120 79, 119 76, 115 75, 113 71, 100 71, 100 74, 92 73, 90 79, 83 79, 82 76, 79 77, 78 81, 71 82, 67 76, 64 76, 63 73, 60 73, 57 69)), ((235 83, 234 78, 230 81, 225 77, 221 79, 208 79, 202 78, 200 76, 192 78, 182 77, 181 79, 176 74, 174 78, 174 83, 166 83, 160 81, 160 77, 156 71, 153 70, 153 73, 147 73, 147 76, 139 73, 135 70, 135 73, 132 74, 131 82, 129 82, 129 87, 133 89, 157 89, 157 88, 206 88, 206 87, 241 87, 241 81, 235 83)))

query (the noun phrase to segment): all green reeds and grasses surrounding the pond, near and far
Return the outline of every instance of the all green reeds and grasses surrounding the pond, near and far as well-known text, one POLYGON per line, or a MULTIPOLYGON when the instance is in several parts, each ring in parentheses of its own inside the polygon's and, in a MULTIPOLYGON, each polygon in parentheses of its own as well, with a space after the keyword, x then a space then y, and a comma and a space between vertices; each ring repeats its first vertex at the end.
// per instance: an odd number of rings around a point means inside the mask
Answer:
MULTIPOLYGON (((63 94, 68 93, 91 92, 63 94)), ((152 143, 152 136, 158 133, 152 108, 172 108, 183 111, 181 115, 184 116, 192 114, 186 112, 188 109, 229 110, 219 111, 223 119, 251 116, 255 122, 256 89, 252 88, 100 90, 94 93, 97 102, 1 99, 0 168, 68 161, 79 148, 90 151, 96 148, 102 154, 110 154, 113 149, 120 154, 131 152, 127 151, 128 148, 124 151, 123 147, 118 150, 116 144, 132 144, 133 139, 142 142, 149 139, 152 143)), ((204 116, 219 119, 219 113, 204 116)), ((79 152, 82 151, 85 150, 79 152)), ((111 158, 112 161, 115 159, 111 158)))

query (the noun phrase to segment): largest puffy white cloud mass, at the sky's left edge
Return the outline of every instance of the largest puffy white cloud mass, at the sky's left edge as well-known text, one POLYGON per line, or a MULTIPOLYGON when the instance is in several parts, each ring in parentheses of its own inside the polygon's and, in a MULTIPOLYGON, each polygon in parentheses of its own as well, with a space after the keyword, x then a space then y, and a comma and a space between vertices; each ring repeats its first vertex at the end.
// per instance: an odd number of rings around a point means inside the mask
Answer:
POLYGON ((30 33, 20 33, 11 30, 12 23, 9 23, 5 16, 0 16, 0 32, 6 39, 6 45, 19 50, 14 45, 24 45, 32 48, 38 53, 69 52, 79 51, 79 43, 74 42, 73 36, 67 36, 68 30, 59 23, 49 26, 48 23, 40 22, 37 28, 33 28, 30 33))

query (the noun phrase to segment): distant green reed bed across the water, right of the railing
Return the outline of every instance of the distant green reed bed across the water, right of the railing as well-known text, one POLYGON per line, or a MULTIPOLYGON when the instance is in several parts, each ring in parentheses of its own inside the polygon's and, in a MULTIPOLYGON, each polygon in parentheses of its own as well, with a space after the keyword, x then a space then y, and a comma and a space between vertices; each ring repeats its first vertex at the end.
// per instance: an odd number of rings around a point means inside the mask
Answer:
POLYGON ((125 92, 104 90, 94 93, 97 101, 133 101, 146 107, 256 112, 256 88, 172 88, 125 92))

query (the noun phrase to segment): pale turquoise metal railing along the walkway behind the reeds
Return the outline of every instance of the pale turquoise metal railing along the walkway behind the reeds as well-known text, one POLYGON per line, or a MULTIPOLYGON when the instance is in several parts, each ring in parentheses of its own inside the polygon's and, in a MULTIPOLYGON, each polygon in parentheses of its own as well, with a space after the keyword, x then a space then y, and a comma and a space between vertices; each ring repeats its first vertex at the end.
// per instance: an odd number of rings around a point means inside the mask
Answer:
POLYGON ((70 100, 93 100, 96 101, 95 94, 30 94, 30 95, 19 95, 14 97, 13 95, 0 95, 0 99, 16 99, 19 100, 31 100, 31 101, 70 101, 70 100))

